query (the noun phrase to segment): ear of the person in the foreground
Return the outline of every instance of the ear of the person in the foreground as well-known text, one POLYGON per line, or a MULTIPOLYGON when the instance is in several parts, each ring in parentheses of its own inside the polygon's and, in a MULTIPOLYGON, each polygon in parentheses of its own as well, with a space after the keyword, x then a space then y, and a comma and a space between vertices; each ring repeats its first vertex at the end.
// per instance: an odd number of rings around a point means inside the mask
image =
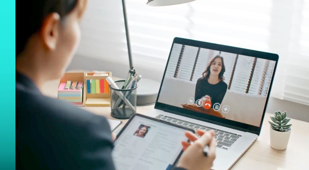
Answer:
POLYGON ((60 15, 56 12, 45 17, 41 30, 40 37, 44 46, 49 50, 54 50, 57 46, 59 38, 60 15))

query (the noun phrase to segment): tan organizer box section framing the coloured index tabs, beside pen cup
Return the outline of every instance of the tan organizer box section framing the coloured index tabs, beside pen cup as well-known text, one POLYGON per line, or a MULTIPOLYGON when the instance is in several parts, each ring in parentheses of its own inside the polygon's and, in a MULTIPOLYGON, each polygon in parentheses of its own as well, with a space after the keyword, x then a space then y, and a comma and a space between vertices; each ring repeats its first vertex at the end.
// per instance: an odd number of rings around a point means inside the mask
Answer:
POLYGON ((112 72, 106 72, 107 75, 93 75, 88 72, 84 76, 84 106, 110 106, 111 105, 111 89, 108 86, 108 93, 87 93, 87 80, 106 79, 112 77, 112 72))

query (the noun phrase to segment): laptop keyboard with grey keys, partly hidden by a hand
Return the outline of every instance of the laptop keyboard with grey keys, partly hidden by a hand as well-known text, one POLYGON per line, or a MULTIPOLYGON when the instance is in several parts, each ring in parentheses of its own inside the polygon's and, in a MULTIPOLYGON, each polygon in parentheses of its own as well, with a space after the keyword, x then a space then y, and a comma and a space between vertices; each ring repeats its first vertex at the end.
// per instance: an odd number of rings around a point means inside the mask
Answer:
POLYGON ((225 150, 229 150, 233 146, 233 144, 241 137, 240 134, 235 134, 232 132, 219 130, 219 129, 215 129, 215 128, 204 126, 204 125, 198 125, 196 123, 176 119, 174 117, 165 116, 163 114, 159 114, 155 118, 163 120, 163 121, 167 121, 167 122, 170 122, 176 125, 191 128, 194 130, 197 130, 197 129, 206 130, 206 131, 214 130, 215 132, 214 138, 216 139, 217 147, 225 149, 225 150))

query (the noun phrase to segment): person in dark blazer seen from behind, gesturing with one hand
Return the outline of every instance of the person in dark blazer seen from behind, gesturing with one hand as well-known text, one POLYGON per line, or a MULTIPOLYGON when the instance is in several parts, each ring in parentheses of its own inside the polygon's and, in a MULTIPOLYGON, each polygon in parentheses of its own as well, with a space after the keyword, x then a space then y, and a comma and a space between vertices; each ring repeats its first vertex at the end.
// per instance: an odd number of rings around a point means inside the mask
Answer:
MULTIPOLYGON (((86 4, 87 0, 16 1, 16 169, 115 169, 111 152, 116 137, 106 118, 40 91, 44 82, 59 79, 70 63, 86 4)), ((196 142, 182 142, 186 151, 176 169, 212 166, 214 133, 198 133, 201 138, 185 134, 196 142), (202 152, 205 145, 210 146, 207 157, 202 152)))

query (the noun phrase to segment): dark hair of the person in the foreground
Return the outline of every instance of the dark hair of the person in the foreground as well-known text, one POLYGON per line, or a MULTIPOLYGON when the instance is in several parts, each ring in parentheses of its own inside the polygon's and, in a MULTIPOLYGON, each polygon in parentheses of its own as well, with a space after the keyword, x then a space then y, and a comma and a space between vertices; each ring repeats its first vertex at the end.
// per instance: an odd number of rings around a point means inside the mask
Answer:
POLYGON ((78 0, 22 0, 16 1, 16 49, 15 56, 21 53, 32 36, 40 30, 44 19, 57 12, 61 19, 77 6, 78 0))

